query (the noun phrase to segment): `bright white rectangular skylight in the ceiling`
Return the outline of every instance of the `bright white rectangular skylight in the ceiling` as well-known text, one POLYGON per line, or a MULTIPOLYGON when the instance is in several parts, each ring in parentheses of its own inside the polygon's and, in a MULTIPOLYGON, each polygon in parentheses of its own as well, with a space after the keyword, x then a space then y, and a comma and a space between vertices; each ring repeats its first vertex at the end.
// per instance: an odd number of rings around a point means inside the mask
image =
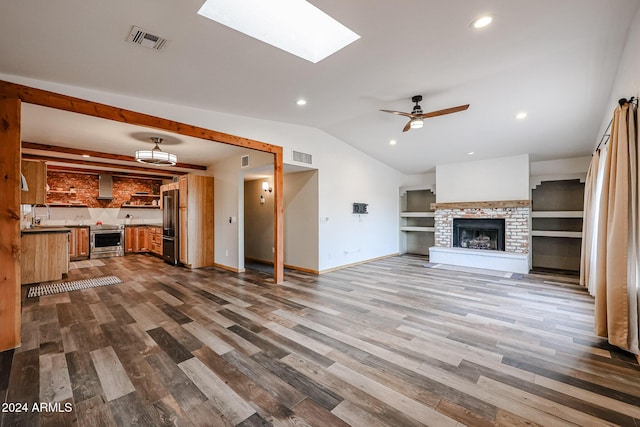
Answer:
POLYGON ((198 14, 314 64, 360 38, 305 0, 206 0, 198 14))

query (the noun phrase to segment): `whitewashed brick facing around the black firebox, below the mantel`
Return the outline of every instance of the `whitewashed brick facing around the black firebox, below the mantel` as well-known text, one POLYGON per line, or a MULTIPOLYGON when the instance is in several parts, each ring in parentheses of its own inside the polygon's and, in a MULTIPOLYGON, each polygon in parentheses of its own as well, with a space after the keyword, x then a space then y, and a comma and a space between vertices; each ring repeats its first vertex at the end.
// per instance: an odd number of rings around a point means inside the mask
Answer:
POLYGON ((454 218, 504 218, 505 252, 517 254, 529 253, 529 235, 531 209, 517 208, 465 208, 436 209, 435 213, 435 245, 453 247, 454 218))

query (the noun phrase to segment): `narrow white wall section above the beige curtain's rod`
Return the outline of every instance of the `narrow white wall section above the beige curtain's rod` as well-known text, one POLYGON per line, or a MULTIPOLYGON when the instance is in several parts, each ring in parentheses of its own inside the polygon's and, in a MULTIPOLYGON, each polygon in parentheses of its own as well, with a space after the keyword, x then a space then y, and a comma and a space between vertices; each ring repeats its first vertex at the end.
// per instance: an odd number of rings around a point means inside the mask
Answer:
POLYGON ((618 100, 620 98, 628 99, 632 96, 640 96, 640 9, 636 12, 631 27, 629 27, 627 41, 618 64, 618 73, 611 86, 609 102, 603 111, 602 124, 598 139, 593 146, 594 149, 600 142, 602 135, 605 134, 609 121, 613 117, 613 111, 618 106, 618 100))

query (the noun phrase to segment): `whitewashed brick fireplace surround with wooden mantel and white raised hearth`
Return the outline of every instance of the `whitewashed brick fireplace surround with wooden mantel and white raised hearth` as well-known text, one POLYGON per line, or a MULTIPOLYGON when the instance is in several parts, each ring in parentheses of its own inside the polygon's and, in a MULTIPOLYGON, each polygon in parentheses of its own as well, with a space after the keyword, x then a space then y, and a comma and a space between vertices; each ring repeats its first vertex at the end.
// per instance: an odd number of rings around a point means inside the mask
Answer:
POLYGON ((529 272, 530 200, 432 203, 431 209, 435 210, 435 246, 429 248, 430 262, 522 274, 529 272), (454 248, 454 218, 503 218, 505 250, 454 248))

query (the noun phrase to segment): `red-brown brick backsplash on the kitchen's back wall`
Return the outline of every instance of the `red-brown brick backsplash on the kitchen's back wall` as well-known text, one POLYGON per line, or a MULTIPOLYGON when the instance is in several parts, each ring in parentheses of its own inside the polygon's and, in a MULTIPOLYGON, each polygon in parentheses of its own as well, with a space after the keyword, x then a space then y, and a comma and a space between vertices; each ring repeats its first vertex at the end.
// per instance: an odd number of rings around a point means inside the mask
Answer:
POLYGON ((136 192, 159 194, 161 180, 113 177, 113 200, 98 200, 98 175, 47 171, 47 184, 50 192, 47 194, 49 204, 86 205, 90 208, 119 208, 128 202, 136 192), (58 193, 57 191, 60 191, 58 193), (73 193, 68 193, 73 191, 73 193), (64 192, 64 193, 62 193, 64 192))

